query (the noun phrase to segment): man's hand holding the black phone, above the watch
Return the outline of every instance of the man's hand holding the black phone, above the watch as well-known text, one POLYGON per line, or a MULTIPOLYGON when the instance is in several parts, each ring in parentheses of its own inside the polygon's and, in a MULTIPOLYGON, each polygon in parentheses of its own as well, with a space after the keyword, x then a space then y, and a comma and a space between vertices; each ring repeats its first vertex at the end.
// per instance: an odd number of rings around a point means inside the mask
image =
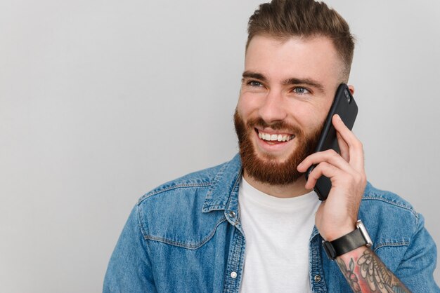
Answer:
POLYGON ((341 154, 333 150, 320 151, 305 158, 297 167, 299 172, 306 172, 311 165, 317 164, 309 174, 306 189, 313 189, 322 175, 332 182, 328 198, 321 203, 315 217, 316 228, 328 241, 354 231, 367 184, 361 142, 344 125, 339 115, 332 117, 332 123, 337 131, 341 154))

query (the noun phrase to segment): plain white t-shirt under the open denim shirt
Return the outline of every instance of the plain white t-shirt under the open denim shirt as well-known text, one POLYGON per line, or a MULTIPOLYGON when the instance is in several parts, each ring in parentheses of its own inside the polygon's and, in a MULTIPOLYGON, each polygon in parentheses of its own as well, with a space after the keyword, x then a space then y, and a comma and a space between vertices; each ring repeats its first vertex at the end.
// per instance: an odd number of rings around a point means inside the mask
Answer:
POLYGON ((311 292, 309 240, 320 204, 316 193, 276 198, 242 178, 238 203, 246 239, 240 292, 311 292))

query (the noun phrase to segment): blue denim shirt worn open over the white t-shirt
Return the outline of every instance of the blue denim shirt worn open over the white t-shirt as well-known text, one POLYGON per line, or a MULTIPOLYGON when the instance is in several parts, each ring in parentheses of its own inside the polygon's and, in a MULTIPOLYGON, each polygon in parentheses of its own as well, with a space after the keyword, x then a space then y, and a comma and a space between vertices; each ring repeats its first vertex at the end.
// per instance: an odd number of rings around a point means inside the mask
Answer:
MULTIPOLYGON (((238 208, 241 170, 237 155, 142 196, 110 258, 103 292, 239 292, 246 247, 238 208)), ((436 245, 409 203, 368 183, 358 217, 372 250, 408 289, 440 292, 432 275, 436 245)), ((322 240, 315 227, 312 292, 351 292, 322 240)))

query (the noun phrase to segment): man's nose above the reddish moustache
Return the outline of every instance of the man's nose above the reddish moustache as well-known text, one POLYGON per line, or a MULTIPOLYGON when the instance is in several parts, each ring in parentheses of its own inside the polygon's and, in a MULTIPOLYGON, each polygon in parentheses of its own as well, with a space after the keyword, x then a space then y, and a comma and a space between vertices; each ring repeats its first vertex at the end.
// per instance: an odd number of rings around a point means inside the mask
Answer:
POLYGON ((280 91, 269 90, 264 103, 259 108, 259 115, 269 124, 286 118, 287 111, 280 91))

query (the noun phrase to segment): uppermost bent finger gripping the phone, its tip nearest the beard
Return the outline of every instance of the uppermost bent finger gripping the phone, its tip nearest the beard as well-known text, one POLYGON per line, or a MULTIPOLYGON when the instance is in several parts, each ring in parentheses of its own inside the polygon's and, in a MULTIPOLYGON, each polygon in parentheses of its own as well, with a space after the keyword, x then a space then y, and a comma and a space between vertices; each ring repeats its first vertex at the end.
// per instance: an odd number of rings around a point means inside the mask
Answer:
POLYGON ((336 168, 344 170, 346 172, 352 172, 353 168, 349 163, 339 156, 337 152, 333 149, 328 149, 327 151, 319 151, 318 153, 311 154, 307 156, 304 161, 299 163, 297 166, 297 170, 299 172, 306 172, 311 165, 318 165, 319 163, 329 163, 330 165, 334 165, 336 168))

